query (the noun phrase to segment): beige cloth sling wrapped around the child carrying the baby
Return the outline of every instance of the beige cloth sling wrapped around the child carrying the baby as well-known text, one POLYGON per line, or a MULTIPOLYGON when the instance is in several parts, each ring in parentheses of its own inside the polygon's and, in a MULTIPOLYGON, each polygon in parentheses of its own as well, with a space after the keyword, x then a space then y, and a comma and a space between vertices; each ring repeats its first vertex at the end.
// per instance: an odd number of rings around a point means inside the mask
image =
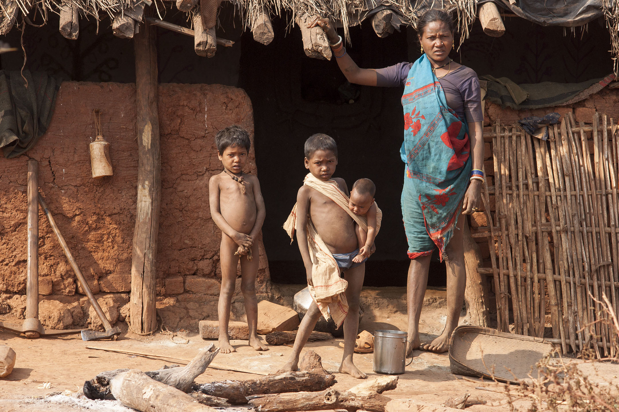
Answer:
MULTIPOLYGON (((303 185, 309 186, 315 190, 318 190, 322 195, 334 201, 337 206, 344 209, 350 217, 361 227, 363 230, 368 230, 368 221, 365 216, 357 216, 348 209, 348 196, 344 191, 340 189, 335 180, 322 180, 316 179, 311 173, 309 173, 303 180, 303 185)), ((381 227, 381 221, 383 219, 383 212, 376 205, 376 233, 381 227)), ((294 240, 295 228, 297 227, 297 204, 292 208, 290 216, 284 223, 284 230, 290 236, 291 243, 294 240)), ((309 294, 318 305, 324 319, 329 319, 329 315, 333 318, 335 325, 340 327, 346 315, 348 314, 348 303, 344 292, 348 286, 348 282, 340 277, 340 268, 337 266, 337 262, 333 258, 331 251, 327 247, 326 243, 322 241, 322 238, 316 232, 316 227, 311 221, 311 217, 308 216, 307 224, 308 232, 308 248, 309 257, 312 263, 312 282, 314 286, 308 285, 309 294)))

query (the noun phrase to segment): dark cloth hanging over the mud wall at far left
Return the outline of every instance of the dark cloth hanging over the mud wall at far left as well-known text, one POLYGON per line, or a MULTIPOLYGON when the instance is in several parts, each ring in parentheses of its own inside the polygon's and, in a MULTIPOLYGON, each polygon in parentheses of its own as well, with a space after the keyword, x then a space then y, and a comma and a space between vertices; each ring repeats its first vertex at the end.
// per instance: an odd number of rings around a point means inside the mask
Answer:
POLYGON ((5 158, 31 149, 45 134, 60 80, 43 72, 0 70, 0 148, 5 158))

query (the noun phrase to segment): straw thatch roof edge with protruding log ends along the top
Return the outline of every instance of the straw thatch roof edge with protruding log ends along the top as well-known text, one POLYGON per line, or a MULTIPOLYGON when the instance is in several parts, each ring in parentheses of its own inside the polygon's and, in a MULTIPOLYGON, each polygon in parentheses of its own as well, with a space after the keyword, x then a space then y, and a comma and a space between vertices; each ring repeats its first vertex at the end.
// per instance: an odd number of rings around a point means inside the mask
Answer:
MULTIPOLYGON (((604 15, 607 28, 611 34, 611 46, 613 60, 615 61, 615 72, 619 65, 619 1, 614 0, 574 0, 565 2, 565 0, 546 0, 541 7, 538 2, 530 0, 229 0, 232 2, 240 16, 242 22, 254 32, 254 38, 264 44, 268 44, 268 38, 257 35, 254 31, 259 23, 265 19, 269 19, 269 15, 287 15, 292 16, 291 25, 299 25, 298 22, 303 21, 303 17, 308 16, 329 16, 334 19, 339 25, 344 27, 345 35, 348 38, 348 28, 359 24, 365 19, 374 19, 382 12, 389 14, 384 21, 387 26, 391 23, 392 27, 387 27, 388 35, 393 32, 394 28, 399 28, 400 25, 416 26, 417 19, 420 15, 429 8, 449 9, 454 12, 457 17, 457 27, 461 33, 461 41, 468 38, 469 29, 472 23, 477 18, 477 9, 482 7, 482 4, 492 2, 503 11, 513 12, 515 15, 532 22, 542 25, 563 25, 574 27, 580 23, 589 22, 592 19, 604 15), (569 3, 569 4, 568 4, 569 3), (554 7, 554 8, 553 8, 554 7), (543 10, 542 10, 543 9, 543 10), (541 15, 547 12, 548 16, 541 15), (563 13, 563 14, 561 14, 563 13), (561 15, 557 15, 561 14, 561 15), (546 18, 548 17, 548 18, 546 18)), ((138 22, 144 19, 144 9, 146 6, 152 6, 155 9, 155 15, 158 17, 165 15, 165 9, 173 9, 178 7, 180 11, 188 13, 188 21, 202 21, 201 30, 198 34, 204 33, 206 36, 207 30, 214 30, 217 9, 221 0, 0 0, 0 9, 2 11, 2 20, 0 21, 0 35, 5 35, 14 27, 15 22, 22 21, 22 17, 26 23, 30 20, 28 16, 33 15, 43 16, 44 20, 50 13, 61 15, 60 31, 67 38, 77 38, 79 32, 79 18, 94 18, 99 22, 106 19, 108 16, 112 22, 114 34, 120 37, 129 37, 133 35, 133 27, 138 22), (198 19, 196 20, 196 16, 198 19), (64 22, 64 23, 63 23, 64 22), (71 24, 72 22, 72 24, 71 24), (64 26, 63 26, 64 24, 64 26)), ((496 10, 496 8, 495 8, 496 10)), ((496 12, 498 15, 498 12, 496 12)), ((309 17, 308 17, 309 18, 309 17)), ((499 18, 500 19, 500 18, 499 18)), ((38 18, 40 20, 40 18, 38 18)), ((150 19, 152 20, 152 18, 150 19)), ((160 22, 164 23, 164 22, 160 22)), ((374 22, 373 22, 374 23, 374 22)), ((502 23, 501 23, 502 24, 502 23)), ((160 24, 162 25, 162 24, 160 24)), ((373 24, 374 25, 374 24, 373 24)), ((174 25, 167 24, 166 27, 170 30, 175 30, 174 25)), ((264 26, 264 25, 262 25, 264 26)), ((268 26, 271 26, 270 20, 268 26)), ((194 35, 193 30, 176 26, 176 31, 186 35, 194 35)), ((301 27, 301 31, 305 28, 301 27)), ((316 29, 318 30, 318 29, 316 29)), ((374 27, 374 30, 377 30, 374 27)), ((379 36, 381 33, 378 32, 379 36)), ((209 36, 214 36, 215 32, 209 32, 209 36)), ((305 37, 310 37, 308 33, 303 33, 305 37)), ((268 36, 267 36, 268 37, 268 36)), ((311 35, 311 42, 316 41, 315 35, 311 35)), ((272 37, 271 37, 272 39, 272 37)), ((319 40, 320 41, 320 40, 319 40)), ((322 40, 323 43, 326 40, 322 40)), ((214 49, 209 53, 199 53, 198 42, 196 41, 196 52, 198 54, 211 57, 214 54, 214 49)), ((232 42, 219 41, 219 44, 231 45, 232 42)), ((314 45, 315 46, 315 45, 314 45)), ((323 44, 318 47, 320 53, 308 53, 306 44, 306 53, 308 56, 319 58, 330 58, 331 51, 328 50, 328 44, 323 44), (322 50, 326 46, 326 51, 322 50)))

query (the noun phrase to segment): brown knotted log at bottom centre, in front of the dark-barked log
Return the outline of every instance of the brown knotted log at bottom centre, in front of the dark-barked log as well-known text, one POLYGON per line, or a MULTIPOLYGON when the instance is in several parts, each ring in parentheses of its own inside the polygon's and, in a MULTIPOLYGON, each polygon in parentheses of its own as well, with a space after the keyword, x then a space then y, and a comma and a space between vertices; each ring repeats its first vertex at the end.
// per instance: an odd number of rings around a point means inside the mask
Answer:
POLYGON ((351 392, 339 392, 327 389, 322 392, 279 393, 264 395, 249 400, 249 404, 258 412, 293 412, 345 409, 384 412, 385 405, 391 398, 374 392, 370 395, 355 395, 351 392))

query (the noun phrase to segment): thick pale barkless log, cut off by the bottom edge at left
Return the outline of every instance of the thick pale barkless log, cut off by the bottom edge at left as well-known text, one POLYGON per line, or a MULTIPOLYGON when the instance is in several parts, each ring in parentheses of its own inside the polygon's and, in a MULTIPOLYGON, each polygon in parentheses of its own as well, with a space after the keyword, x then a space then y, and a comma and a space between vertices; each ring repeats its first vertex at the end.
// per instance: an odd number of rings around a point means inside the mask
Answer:
POLYGON ((112 395, 124 406, 149 412, 217 412, 186 393, 157 382, 142 371, 131 369, 110 382, 112 395))

